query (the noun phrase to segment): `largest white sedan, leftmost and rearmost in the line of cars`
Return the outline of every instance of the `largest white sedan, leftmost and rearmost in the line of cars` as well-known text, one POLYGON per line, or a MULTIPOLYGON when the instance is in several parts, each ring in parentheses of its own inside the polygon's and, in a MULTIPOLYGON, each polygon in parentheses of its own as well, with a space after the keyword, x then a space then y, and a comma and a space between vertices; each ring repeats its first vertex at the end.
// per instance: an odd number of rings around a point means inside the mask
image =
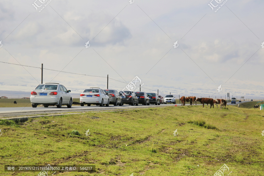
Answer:
POLYGON ((45 108, 49 105, 56 105, 61 108, 62 105, 72 107, 72 96, 70 90, 67 90, 62 84, 45 83, 39 84, 31 92, 30 101, 33 108, 43 104, 45 108))

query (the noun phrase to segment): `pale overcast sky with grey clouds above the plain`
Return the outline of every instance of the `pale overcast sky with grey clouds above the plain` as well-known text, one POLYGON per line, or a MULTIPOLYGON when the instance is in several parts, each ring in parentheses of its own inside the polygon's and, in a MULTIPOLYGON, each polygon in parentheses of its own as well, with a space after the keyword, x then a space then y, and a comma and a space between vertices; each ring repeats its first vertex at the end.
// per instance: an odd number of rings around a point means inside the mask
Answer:
POLYGON ((34 67, 43 63, 43 82, 72 93, 106 88, 109 75, 109 88, 117 90, 138 76, 145 92, 264 98, 263 6, 263 0, 1 0, 0 90, 31 92, 41 83, 34 67))

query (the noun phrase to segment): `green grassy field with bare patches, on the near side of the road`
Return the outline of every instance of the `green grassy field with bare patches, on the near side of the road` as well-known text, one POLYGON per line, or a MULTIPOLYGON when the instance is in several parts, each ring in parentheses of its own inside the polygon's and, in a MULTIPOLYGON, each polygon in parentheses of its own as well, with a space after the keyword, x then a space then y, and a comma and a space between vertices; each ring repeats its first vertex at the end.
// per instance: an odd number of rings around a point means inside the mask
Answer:
POLYGON ((47 164, 96 166, 90 174, 58 176, 212 176, 224 164, 231 176, 264 173, 264 111, 259 109, 173 106, 89 112, 23 123, 1 120, 0 129, 1 176, 38 175, 4 172, 4 165, 47 164))

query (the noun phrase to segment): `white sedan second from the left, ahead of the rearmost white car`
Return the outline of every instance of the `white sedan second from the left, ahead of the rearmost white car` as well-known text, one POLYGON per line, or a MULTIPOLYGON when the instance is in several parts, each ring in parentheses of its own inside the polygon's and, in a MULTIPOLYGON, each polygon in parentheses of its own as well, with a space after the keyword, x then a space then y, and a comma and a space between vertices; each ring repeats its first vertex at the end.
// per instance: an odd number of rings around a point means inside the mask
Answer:
POLYGON ((104 92, 103 89, 100 88, 93 88, 85 89, 80 94, 80 105, 84 106, 84 104, 87 104, 87 106, 91 106, 91 104, 95 104, 97 106, 109 106, 109 97, 107 96, 107 93, 104 92))

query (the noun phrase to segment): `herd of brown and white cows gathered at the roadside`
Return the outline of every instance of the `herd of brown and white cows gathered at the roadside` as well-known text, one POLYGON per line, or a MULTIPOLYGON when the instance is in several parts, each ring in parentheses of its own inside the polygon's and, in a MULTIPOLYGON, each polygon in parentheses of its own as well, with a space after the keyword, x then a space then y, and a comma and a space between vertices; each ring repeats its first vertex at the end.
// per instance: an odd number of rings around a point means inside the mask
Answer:
POLYGON ((190 105, 194 105, 194 101, 195 101, 195 105, 196 104, 196 101, 199 101, 200 103, 203 104, 203 107, 204 107, 204 104, 210 104, 210 108, 213 106, 214 108, 214 104, 216 105, 216 107, 218 108, 218 104, 220 104, 220 108, 223 108, 225 106, 226 108, 226 100, 224 99, 212 99, 212 98, 197 98, 196 97, 185 97, 185 96, 182 96, 180 98, 180 101, 182 102, 182 106, 185 106, 185 102, 190 102, 190 105))

